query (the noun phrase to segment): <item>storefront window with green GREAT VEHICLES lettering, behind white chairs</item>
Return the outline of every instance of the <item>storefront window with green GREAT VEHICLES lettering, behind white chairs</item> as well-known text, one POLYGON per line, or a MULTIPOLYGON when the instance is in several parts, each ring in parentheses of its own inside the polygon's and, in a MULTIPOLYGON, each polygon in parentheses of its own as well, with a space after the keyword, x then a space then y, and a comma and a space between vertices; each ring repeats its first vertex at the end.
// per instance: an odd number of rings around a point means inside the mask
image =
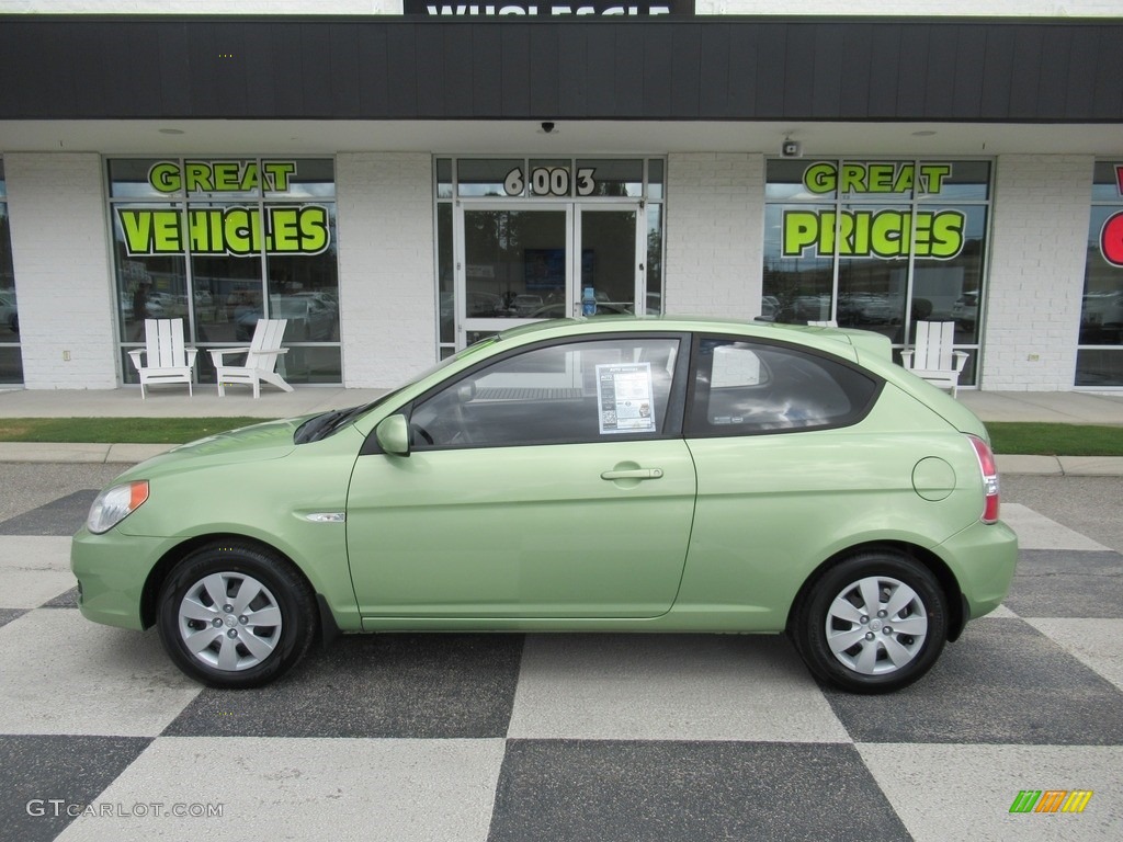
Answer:
MULTIPOLYGON (((290 383, 340 383, 335 166, 321 158, 109 162, 127 383, 144 320, 184 320, 200 347, 236 347, 286 319, 290 383)), ((200 381, 214 382, 200 354, 200 381)))

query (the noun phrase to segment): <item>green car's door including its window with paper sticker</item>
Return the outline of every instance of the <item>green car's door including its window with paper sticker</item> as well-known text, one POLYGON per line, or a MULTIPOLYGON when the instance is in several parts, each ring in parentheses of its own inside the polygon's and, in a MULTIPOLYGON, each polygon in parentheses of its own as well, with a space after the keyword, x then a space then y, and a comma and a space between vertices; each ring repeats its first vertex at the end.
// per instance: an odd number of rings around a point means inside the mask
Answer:
POLYGON ((350 484, 364 616, 665 613, 694 512, 685 347, 634 333, 535 346, 403 408, 409 456, 360 456, 350 484))

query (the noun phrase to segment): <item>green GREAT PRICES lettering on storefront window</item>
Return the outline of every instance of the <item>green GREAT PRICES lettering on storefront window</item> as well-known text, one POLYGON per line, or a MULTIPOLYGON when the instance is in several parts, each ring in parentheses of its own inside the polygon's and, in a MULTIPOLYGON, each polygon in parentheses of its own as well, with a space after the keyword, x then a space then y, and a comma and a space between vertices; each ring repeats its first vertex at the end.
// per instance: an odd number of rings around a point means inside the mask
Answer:
MULTIPOLYGON (((807 166, 803 186, 812 195, 911 195, 913 190, 938 195, 952 164, 846 163, 821 161, 807 166)), ((964 248, 967 217, 958 210, 905 208, 843 211, 784 211, 783 254, 802 257, 873 257, 891 260, 917 257, 949 260, 964 248)))

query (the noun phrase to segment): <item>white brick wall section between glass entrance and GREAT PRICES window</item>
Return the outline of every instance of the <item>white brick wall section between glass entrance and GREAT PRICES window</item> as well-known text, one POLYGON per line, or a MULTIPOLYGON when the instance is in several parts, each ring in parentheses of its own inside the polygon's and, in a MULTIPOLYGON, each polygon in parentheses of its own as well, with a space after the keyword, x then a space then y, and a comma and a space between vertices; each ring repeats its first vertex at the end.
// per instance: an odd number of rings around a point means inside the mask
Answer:
POLYGON ((764 155, 668 157, 664 277, 668 313, 759 315, 764 210, 764 155))

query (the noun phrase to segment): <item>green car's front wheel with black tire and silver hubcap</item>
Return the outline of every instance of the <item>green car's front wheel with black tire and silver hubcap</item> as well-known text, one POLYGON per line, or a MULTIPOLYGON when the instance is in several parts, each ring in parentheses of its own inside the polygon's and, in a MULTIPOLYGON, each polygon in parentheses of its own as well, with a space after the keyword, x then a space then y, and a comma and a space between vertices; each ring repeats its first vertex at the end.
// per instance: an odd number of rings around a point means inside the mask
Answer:
POLYGON ((195 550, 171 571, 156 625, 175 666, 210 687, 235 689, 292 669, 312 642, 316 619, 311 588, 292 564, 225 542, 195 550))

